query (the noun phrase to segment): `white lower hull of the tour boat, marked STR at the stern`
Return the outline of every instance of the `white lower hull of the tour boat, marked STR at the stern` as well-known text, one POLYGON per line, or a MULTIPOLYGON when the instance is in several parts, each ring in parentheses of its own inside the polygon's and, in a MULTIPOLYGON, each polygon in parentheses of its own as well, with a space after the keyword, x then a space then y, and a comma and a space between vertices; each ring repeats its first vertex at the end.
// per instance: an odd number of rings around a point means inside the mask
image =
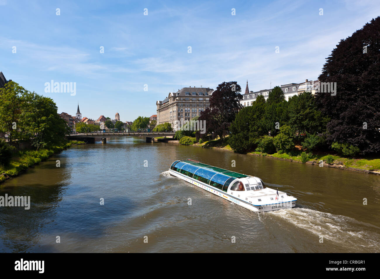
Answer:
POLYGON ((265 205, 252 205, 248 202, 245 202, 244 200, 239 199, 238 197, 235 197, 234 195, 227 194, 226 192, 222 192, 220 191, 220 189, 214 188, 208 184, 202 183, 201 181, 182 175, 179 172, 169 169, 169 173, 175 177, 181 178, 182 180, 192 183, 193 185, 198 186, 199 188, 202 188, 208 192, 211 192, 212 194, 220 196, 223 199, 228 200, 232 203, 236 203, 237 205, 247 208, 248 210, 253 211, 253 212, 274 211, 274 210, 280 210, 280 209, 285 209, 285 208, 293 208, 294 206, 296 206, 295 200, 291 200, 287 202, 277 202, 277 203, 271 203, 271 204, 265 204, 265 205))

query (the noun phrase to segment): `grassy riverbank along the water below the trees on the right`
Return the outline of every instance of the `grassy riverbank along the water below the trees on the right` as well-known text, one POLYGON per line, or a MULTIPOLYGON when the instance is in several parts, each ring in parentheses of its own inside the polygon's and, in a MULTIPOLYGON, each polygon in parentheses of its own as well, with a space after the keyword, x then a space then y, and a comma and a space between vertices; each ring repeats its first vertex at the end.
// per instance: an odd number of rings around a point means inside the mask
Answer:
MULTIPOLYGON (((179 144, 178 140, 165 140, 165 142, 179 144)), ((195 143, 191 146, 233 152, 230 145, 228 145, 226 141, 221 141, 220 139, 209 140, 203 143, 195 143)), ((269 157, 278 160, 302 163, 301 154, 297 156, 291 156, 286 153, 267 154, 263 152, 253 151, 247 153, 247 155, 269 157)), ((380 175, 379 158, 345 158, 340 157, 337 154, 318 153, 312 154, 312 157, 308 158, 305 164, 318 165, 320 167, 333 167, 341 170, 350 170, 353 172, 365 172, 380 175), (327 162, 329 156, 332 156, 331 164, 327 162), (323 164, 321 164, 321 162, 323 162, 323 164)))

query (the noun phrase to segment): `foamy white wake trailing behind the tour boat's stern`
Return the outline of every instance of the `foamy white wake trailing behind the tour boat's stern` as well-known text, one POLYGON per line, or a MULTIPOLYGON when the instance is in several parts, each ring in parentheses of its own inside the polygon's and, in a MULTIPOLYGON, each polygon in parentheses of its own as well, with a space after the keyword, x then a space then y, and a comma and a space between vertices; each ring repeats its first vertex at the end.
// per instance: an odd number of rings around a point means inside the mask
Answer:
POLYGON ((296 227, 323 236, 325 240, 334 241, 339 245, 357 247, 358 250, 366 248, 372 252, 380 251, 380 234, 378 233, 380 228, 347 216, 308 208, 283 209, 259 214, 261 222, 265 222, 268 217, 290 222, 296 227))

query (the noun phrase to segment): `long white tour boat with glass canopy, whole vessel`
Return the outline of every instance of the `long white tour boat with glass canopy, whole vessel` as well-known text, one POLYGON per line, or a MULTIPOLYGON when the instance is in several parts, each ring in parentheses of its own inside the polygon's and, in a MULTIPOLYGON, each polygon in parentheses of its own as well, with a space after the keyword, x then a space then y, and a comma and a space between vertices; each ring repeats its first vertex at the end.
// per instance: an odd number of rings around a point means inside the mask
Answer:
POLYGON ((169 172, 254 212, 296 206, 295 197, 266 187, 258 177, 231 172, 193 160, 174 161, 169 172))

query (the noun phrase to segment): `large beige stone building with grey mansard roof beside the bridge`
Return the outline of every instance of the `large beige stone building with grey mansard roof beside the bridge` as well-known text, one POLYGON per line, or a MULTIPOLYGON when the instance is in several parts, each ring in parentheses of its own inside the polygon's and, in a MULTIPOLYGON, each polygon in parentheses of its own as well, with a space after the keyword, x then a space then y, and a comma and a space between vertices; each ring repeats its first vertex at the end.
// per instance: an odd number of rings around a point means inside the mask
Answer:
POLYGON ((176 131, 177 120, 190 120, 199 116, 210 106, 211 88, 184 87, 177 92, 169 92, 163 101, 157 101, 157 125, 168 122, 176 131))

